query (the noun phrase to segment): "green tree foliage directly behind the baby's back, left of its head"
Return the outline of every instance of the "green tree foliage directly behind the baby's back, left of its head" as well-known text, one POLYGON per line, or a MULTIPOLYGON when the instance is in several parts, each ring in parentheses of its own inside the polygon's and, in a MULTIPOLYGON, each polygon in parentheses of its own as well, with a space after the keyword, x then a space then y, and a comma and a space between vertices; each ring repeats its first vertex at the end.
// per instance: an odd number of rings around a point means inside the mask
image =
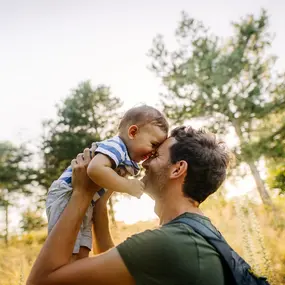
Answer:
POLYGON ((46 189, 84 148, 114 134, 121 102, 110 89, 83 82, 58 106, 58 118, 44 123, 43 168, 38 181, 46 189))

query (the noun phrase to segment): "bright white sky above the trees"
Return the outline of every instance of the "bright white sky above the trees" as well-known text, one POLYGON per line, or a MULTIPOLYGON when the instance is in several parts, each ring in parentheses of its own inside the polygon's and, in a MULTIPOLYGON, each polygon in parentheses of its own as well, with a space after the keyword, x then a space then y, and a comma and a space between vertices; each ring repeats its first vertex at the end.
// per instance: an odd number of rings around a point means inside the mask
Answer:
MULTIPOLYGON (((0 0, 0 140, 38 144, 41 122, 54 118, 55 104, 86 79, 111 86, 125 109, 139 102, 155 105, 161 87, 147 69, 146 53, 157 33, 174 46, 185 10, 226 37, 230 22, 261 7, 269 11, 276 34, 272 52, 283 67, 285 2, 280 0, 0 0)), ((149 216, 153 205, 148 204, 138 217, 149 216)))

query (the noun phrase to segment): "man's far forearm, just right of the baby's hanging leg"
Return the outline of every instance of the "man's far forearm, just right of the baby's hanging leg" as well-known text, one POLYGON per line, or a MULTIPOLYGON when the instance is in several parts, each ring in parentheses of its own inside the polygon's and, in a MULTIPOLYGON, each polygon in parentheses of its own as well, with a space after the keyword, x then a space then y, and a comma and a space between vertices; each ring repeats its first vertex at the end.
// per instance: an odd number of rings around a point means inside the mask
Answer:
MULTIPOLYGON (((112 195, 112 191, 107 191, 95 204, 93 210, 93 241, 98 253, 105 252, 114 247, 114 242, 110 233, 107 202, 112 195)), ((95 253, 95 252, 94 252, 95 253)))

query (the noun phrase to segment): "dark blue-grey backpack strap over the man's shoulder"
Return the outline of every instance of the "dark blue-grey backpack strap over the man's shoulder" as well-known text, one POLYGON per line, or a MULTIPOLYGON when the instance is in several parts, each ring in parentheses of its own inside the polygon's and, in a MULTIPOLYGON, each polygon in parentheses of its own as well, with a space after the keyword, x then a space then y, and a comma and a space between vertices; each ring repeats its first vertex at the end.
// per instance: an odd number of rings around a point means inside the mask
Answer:
POLYGON ((223 236, 216 234, 210 228, 208 228, 203 223, 197 221, 196 219, 191 218, 179 218, 171 223, 183 223, 190 226, 195 232, 204 237, 209 244, 211 244, 217 252, 222 256, 230 271, 233 273, 233 264, 232 264, 232 249, 225 241, 223 236))

